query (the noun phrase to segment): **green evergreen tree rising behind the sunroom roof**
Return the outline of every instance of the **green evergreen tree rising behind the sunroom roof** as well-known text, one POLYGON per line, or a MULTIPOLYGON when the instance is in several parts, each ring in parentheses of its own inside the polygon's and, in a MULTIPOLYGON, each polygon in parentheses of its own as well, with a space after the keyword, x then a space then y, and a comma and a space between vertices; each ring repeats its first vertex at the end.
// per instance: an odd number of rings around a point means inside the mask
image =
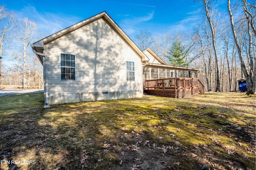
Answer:
POLYGON ((188 67, 189 63, 185 60, 187 57, 185 47, 179 40, 175 40, 172 43, 168 54, 169 55, 167 56, 167 58, 172 65, 179 67, 188 67))

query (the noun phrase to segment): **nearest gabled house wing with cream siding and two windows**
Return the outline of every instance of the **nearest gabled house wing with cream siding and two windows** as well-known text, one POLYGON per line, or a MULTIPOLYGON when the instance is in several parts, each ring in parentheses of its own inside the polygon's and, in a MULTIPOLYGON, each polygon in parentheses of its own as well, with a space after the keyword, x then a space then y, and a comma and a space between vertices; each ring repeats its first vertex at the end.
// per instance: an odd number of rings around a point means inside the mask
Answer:
POLYGON ((143 95, 149 59, 106 12, 31 47, 44 67, 45 107, 143 95))

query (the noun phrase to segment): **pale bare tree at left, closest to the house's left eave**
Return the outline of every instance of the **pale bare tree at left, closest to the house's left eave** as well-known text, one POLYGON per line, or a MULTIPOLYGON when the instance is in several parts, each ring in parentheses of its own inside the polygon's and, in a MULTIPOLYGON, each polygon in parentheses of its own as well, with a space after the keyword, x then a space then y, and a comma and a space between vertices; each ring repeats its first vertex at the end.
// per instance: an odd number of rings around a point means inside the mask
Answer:
POLYGON ((14 53, 15 58, 18 59, 22 65, 22 85, 23 88, 26 89, 26 81, 27 81, 27 57, 29 56, 28 49, 30 49, 29 45, 34 40, 34 36, 36 34, 38 26, 35 22, 28 20, 28 18, 24 18, 22 21, 20 21, 19 24, 19 31, 16 34, 16 40, 17 44, 19 44, 18 47, 16 47, 16 52, 14 53))

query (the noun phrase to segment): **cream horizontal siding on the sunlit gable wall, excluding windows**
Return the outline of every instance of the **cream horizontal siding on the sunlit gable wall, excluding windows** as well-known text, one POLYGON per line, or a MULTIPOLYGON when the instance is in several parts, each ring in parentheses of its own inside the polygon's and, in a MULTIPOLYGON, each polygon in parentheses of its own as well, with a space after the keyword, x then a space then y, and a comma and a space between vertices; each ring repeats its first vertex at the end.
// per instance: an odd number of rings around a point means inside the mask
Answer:
POLYGON ((103 18, 47 43, 44 53, 49 104, 142 97, 142 59, 103 18), (76 55, 76 81, 60 81, 60 53, 76 55), (135 81, 126 81, 126 61, 135 63, 135 81))

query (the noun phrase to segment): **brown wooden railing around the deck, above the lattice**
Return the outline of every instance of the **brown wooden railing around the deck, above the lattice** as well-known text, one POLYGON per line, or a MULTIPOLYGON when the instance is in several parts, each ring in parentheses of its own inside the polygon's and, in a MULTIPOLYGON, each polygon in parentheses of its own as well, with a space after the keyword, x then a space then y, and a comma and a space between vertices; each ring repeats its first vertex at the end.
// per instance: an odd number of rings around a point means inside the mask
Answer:
POLYGON ((167 78, 144 80, 143 86, 145 90, 150 89, 188 89, 197 86, 200 93, 204 93, 204 85, 198 78, 167 78))

